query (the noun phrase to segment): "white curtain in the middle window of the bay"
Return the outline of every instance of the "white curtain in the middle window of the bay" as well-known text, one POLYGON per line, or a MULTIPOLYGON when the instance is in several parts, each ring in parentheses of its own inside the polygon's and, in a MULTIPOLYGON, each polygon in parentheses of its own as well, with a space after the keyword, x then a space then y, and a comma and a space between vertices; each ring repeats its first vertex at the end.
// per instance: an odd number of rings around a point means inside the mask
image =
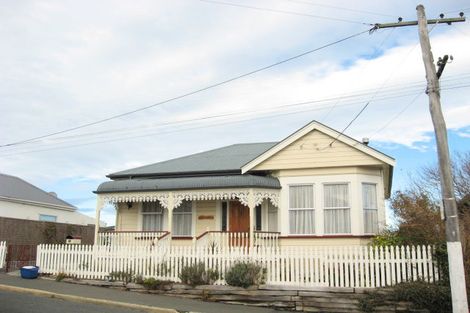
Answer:
POLYGON ((349 185, 324 185, 325 234, 348 234, 351 232, 349 185))

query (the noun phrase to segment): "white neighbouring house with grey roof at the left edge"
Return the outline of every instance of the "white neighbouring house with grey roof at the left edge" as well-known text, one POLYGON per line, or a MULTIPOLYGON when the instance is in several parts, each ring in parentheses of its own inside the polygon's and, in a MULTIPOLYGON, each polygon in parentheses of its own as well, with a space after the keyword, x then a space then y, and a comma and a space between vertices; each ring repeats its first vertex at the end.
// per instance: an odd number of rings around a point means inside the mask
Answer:
POLYGON ((95 224, 95 219, 27 181, 0 174, 0 217, 76 225, 95 224))

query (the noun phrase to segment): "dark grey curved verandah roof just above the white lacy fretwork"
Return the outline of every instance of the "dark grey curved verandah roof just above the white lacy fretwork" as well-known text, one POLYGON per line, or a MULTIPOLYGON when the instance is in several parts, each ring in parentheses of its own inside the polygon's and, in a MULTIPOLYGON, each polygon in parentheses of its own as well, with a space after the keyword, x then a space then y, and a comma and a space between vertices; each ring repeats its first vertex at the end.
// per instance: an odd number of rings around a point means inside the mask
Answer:
POLYGON ((104 182, 96 193, 125 191, 158 191, 207 188, 261 187, 280 189, 279 180, 270 176, 230 175, 203 177, 175 177, 155 179, 123 179, 104 182))

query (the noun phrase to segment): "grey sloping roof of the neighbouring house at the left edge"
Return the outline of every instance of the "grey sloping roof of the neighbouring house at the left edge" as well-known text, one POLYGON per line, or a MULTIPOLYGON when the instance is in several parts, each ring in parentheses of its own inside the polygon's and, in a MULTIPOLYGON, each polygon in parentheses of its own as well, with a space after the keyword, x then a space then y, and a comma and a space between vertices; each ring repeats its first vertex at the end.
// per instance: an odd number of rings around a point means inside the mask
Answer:
POLYGON ((0 174, 0 197, 76 208, 19 177, 0 174))

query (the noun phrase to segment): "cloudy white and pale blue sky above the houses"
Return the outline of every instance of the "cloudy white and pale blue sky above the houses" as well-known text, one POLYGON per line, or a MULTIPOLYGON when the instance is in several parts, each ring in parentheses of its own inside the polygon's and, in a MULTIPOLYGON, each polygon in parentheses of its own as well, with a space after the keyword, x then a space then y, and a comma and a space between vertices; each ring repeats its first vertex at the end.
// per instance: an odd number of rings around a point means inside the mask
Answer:
MULTIPOLYGON (((422 1, 428 18, 467 1, 422 1)), ((0 172, 94 215, 105 175, 311 120, 397 159, 394 189, 436 160, 417 28, 365 32, 265 71, 158 104, 367 31, 416 19, 418 2, 0 1, 0 172), (10 144, 14 145, 10 145, 10 144)), ((450 150, 470 150, 470 25, 430 26, 450 150)), ((113 224, 112 209, 104 218, 113 224)))

